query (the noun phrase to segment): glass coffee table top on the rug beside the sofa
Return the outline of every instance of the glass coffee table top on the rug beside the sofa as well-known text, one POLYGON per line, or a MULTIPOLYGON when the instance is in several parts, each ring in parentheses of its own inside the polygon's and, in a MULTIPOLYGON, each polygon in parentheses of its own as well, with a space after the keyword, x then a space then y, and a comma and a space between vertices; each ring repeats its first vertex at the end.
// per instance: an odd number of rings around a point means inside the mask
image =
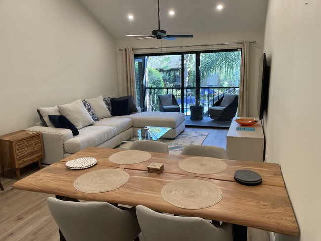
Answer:
POLYGON ((157 141, 172 128, 145 126, 145 128, 134 128, 133 132, 126 138, 121 139, 123 143, 130 143, 137 140, 157 141))

